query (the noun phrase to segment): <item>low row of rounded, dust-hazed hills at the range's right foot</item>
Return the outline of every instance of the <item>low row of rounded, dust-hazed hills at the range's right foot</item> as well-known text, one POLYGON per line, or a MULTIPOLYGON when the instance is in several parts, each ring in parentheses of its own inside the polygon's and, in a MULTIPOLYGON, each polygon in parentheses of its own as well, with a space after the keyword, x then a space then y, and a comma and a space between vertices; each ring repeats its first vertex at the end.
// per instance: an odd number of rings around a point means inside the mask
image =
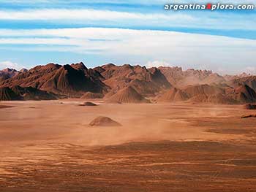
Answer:
POLYGON ((172 88, 157 96, 157 101, 192 101, 213 104, 244 104, 256 102, 256 93, 248 85, 236 88, 217 85, 188 85, 186 88, 172 88))

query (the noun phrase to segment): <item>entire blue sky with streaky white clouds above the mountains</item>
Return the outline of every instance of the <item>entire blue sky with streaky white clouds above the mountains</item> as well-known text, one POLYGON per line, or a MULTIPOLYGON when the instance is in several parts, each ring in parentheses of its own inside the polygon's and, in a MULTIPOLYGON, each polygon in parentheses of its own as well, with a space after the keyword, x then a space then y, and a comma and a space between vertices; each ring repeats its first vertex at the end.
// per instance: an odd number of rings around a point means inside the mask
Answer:
MULTIPOLYGON (((206 0, 0 0, 0 69, 48 63, 256 74, 256 9, 165 10, 206 0)), ((256 0, 211 0, 255 4, 256 0)))

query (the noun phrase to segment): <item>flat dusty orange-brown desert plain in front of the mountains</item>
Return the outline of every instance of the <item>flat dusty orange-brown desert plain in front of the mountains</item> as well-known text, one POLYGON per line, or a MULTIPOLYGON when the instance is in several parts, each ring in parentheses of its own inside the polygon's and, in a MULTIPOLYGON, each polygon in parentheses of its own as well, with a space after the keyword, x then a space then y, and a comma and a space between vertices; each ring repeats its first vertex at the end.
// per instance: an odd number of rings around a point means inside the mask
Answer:
POLYGON ((0 103, 0 191, 256 191, 252 110, 81 102, 0 103))

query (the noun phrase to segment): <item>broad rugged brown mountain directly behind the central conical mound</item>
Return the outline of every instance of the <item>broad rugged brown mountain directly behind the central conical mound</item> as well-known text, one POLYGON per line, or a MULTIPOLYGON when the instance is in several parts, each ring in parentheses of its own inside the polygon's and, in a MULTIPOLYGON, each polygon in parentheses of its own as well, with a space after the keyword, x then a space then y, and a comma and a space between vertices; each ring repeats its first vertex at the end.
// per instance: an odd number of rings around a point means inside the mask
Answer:
POLYGON ((95 67, 94 70, 102 74, 103 82, 116 91, 131 86, 138 93, 148 96, 171 87, 170 82, 157 68, 106 64, 95 67))

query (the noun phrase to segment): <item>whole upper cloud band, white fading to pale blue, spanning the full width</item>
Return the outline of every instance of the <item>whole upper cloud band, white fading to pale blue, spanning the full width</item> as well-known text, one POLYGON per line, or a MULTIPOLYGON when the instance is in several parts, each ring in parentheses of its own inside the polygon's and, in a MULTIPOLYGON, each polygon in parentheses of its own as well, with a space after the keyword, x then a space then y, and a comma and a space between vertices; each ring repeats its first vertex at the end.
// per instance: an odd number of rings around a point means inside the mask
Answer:
MULTIPOLYGON (((97 26, 185 27, 255 30, 252 15, 237 12, 125 12, 107 9, 0 9, 1 20, 36 20, 46 23, 72 23, 97 26)), ((252 10, 253 12, 253 10, 252 10)))

